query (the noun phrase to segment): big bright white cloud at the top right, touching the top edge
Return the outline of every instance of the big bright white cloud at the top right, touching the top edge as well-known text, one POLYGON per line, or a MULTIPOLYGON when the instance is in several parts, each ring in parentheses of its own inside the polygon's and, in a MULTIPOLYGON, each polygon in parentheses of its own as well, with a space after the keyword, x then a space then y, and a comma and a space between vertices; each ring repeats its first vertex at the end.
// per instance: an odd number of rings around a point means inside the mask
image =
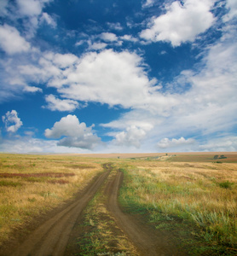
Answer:
POLYGON ((211 14, 211 0, 185 0, 183 5, 175 1, 166 6, 165 15, 153 17, 143 30, 141 38, 154 42, 171 42, 173 46, 191 41, 205 32, 214 22, 211 14))

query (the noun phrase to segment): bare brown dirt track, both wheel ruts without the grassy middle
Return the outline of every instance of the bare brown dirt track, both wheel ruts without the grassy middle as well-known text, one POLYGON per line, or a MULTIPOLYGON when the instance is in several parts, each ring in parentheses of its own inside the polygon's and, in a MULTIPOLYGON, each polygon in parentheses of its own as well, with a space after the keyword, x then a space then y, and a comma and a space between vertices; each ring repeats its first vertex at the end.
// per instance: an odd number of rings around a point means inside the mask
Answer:
POLYGON ((119 185, 123 181, 123 173, 118 171, 108 178, 111 169, 111 164, 105 164, 104 170, 106 172, 97 177, 94 183, 90 183, 77 201, 74 201, 71 205, 55 214, 53 218, 44 222, 37 230, 34 230, 26 241, 14 250, 14 253, 4 255, 64 255, 73 226, 80 223, 84 208, 105 182, 104 193, 108 198, 106 207, 115 218, 116 224, 129 237, 141 255, 185 255, 185 253, 177 252, 176 247, 170 241, 170 237, 161 232, 154 232, 151 227, 142 223, 141 219, 121 211, 117 198, 119 185))

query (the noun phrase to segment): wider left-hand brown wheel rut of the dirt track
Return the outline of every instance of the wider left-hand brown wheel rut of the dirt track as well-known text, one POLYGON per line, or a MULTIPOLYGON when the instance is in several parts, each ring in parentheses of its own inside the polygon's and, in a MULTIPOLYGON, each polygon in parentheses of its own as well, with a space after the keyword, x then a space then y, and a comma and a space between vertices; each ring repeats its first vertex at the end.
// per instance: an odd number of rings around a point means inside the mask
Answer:
POLYGON ((61 212, 58 212, 53 218, 50 218, 39 226, 37 230, 34 230, 26 241, 11 255, 62 256, 74 224, 97 190, 105 182, 109 172, 109 170, 103 172, 101 176, 97 177, 94 183, 90 183, 79 200, 73 202, 61 212))

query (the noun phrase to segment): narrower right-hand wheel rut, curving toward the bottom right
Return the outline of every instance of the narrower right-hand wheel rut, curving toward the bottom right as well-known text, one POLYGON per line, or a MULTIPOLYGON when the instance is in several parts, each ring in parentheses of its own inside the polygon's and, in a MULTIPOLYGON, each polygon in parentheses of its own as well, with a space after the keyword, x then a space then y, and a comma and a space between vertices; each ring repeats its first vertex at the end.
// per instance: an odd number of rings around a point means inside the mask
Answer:
POLYGON ((115 218, 116 224, 129 237, 136 246, 140 255, 163 256, 184 255, 177 253, 176 247, 165 237, 162 232, 154 232, 146 224, 142 224, 137 218, 121 211, 118 204, 119 186, 123 182, 123 172, 117 172, 107 183, 104 193, 108 195, 107 209, 115 218))

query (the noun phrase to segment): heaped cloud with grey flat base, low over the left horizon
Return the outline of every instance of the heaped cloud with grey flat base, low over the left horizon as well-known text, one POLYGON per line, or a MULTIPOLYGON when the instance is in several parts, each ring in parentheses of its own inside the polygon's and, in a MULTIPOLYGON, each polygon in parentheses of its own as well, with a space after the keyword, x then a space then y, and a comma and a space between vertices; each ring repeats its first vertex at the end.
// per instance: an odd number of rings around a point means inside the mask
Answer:
POLYGON ((45 137, 61 138, 58 146, 93 149, 97 146, 101 139, 97 137, 92 126, 87 127, 85 123, 80 123, 76 115, 68 114, 56 122, 52 129, 46 129, 45 137))

